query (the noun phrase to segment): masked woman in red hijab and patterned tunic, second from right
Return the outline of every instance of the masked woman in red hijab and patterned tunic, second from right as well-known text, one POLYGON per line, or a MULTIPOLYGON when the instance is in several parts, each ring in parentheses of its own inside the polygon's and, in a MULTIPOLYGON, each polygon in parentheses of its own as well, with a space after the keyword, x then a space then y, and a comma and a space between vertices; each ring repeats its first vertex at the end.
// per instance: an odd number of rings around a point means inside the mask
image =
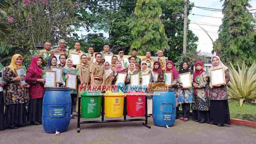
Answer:
POLYGON ((193 117, 195 122, 208 122, 209 98, 207 96, 206 72, 203 70, 203 63, 198 61, 195 64, 195 72, 193 73, 193 117), (198 118, 196 117, 198 115, 198 118))

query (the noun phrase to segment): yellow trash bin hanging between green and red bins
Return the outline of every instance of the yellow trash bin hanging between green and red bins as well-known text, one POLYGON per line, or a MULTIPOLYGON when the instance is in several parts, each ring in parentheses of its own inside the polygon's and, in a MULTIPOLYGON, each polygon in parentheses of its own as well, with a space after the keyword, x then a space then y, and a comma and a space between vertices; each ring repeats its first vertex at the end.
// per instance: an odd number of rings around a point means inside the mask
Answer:
POLYGON ((108 118, 119 118, 124 112, 124 93, 112 93, 106 91, 104 95, 105 116, 108 118))

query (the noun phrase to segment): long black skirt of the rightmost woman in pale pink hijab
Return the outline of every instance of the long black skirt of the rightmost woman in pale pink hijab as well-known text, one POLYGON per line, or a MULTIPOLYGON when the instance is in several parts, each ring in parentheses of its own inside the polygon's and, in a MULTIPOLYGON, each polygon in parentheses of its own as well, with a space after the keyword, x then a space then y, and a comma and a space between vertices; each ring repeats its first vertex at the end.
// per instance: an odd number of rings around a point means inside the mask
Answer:
POLYGON ((230 125, 228 100, 210 100, 210 122, 230 125))

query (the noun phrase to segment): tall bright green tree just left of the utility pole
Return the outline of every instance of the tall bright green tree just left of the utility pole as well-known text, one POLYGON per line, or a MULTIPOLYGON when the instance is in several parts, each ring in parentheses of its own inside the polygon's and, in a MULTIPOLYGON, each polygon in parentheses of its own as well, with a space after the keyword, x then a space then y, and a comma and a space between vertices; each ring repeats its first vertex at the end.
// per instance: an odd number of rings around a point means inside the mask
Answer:
POLYGON ((145 55, 146 51, 155 53, 168 47, 158 3, 157 0, 137 0, 134 16, 128 20, 133 36, 131 49, 137 48, 138 55, 145 55))

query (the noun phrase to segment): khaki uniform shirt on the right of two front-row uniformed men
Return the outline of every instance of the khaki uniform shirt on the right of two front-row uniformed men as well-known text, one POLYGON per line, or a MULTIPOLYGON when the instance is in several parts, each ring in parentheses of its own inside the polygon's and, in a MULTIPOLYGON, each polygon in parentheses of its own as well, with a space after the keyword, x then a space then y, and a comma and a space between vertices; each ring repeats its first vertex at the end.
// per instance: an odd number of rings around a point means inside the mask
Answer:
POLYGON ((101 63, 93 62, 93 64, 90 65, 90 73, 93 73, 94 79, 101 79, 103 80, 104 76, 104 65, 101 63))

